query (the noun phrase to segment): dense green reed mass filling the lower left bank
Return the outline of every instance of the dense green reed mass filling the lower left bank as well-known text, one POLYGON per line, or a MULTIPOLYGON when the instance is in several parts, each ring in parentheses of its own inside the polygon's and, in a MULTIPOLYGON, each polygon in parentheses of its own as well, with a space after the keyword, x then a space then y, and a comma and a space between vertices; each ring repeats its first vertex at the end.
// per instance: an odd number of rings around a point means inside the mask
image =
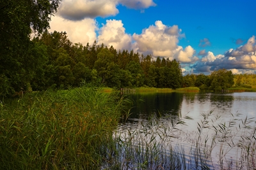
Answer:
POLYGON ((81 87, 0 103, 0 169, 98 169, 124 99, 81 87))

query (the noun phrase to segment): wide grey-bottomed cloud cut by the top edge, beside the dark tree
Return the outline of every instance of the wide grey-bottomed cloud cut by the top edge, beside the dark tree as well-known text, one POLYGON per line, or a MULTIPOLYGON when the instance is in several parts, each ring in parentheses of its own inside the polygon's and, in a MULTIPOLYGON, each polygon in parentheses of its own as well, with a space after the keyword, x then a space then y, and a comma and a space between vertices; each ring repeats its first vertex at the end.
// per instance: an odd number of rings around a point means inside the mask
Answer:
POLYGON ((67 20, 115 16, 117 0, 64 0, 57 15, 67 20))

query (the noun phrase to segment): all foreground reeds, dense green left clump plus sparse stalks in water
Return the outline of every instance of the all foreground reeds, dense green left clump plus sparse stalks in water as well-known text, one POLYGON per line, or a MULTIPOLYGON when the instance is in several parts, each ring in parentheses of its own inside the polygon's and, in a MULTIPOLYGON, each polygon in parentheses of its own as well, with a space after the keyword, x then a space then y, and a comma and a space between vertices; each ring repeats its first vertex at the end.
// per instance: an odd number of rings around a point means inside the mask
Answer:
POLYGON ((129 101, 83 86, 0 103, 0 169, 256 169, 254 118, 150 117, 118 124, 129 101), (232 157, 230 157, 230 153, 232 157))

